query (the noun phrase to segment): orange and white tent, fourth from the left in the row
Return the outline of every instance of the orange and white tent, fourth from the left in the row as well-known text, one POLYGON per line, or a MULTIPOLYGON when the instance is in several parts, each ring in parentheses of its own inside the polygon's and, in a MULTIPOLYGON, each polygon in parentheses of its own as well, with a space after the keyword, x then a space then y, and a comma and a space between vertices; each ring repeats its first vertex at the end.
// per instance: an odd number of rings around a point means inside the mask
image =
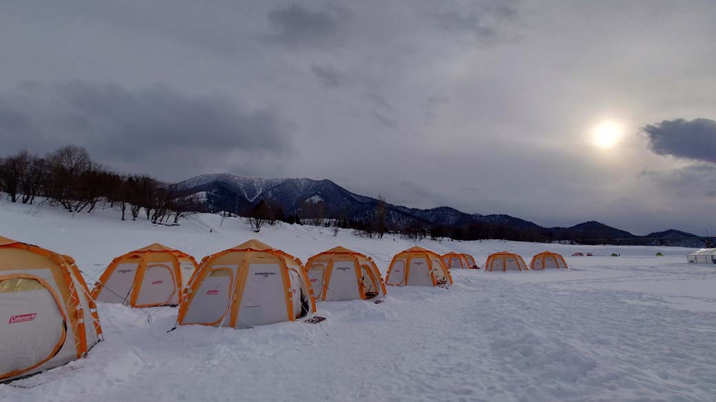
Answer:
POLYGON ((317 300, 385 296, 383 278, 372 258, 345 247, 334 247, 309 258, 306 273, 317 300))

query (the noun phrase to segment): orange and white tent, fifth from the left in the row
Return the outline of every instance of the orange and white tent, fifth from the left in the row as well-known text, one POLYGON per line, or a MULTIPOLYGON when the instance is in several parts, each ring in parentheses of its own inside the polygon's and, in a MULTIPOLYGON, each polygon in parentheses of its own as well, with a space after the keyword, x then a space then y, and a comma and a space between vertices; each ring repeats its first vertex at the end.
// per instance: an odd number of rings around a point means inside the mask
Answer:
POLYGON ((453 277, 440 254, 416 245, 393 257, 385 284, 391 286, 452 285, 453 277))

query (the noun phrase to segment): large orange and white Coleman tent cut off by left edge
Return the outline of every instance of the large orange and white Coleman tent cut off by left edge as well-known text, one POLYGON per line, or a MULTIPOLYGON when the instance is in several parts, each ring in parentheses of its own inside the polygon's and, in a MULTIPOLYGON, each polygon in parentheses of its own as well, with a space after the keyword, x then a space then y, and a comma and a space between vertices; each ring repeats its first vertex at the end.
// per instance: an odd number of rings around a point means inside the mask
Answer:
POLYGON ((0 236, 0 381, 82 358, 101 334, 72 258, 0 236))

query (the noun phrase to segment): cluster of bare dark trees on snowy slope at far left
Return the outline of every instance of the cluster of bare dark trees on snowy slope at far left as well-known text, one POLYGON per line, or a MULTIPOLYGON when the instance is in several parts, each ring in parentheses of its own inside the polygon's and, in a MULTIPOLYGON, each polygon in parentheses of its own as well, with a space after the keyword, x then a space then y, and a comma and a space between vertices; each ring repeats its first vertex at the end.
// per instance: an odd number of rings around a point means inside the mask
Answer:
POLYGON ((11 202, 32 205, 42 200, 68 212, 92 212, 102 203, 120 210, 122 220, 141 216, 153 223, 176 224, 202 210, 197 197, 182 197, 149 175, 112 172, 75 145, 44 157, 23 150, 1 158, 0 191, 11 202))

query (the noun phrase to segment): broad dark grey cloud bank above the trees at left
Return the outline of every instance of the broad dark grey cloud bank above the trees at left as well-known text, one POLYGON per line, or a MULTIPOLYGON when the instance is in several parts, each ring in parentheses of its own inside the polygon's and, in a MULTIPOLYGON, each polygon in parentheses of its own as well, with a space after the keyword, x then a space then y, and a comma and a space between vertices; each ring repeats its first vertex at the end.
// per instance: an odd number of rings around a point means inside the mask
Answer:
POLYGON ((82 144, 100 162, 188 175, 207 166, 198 161, 203 155, 213 162, 233 153, 251 160, 291 148, 287 124, 276 112, 248 110, 219 94, 190 96, 164 85, 26 82, 0 99, 0 137, 8 152, 82 144))

